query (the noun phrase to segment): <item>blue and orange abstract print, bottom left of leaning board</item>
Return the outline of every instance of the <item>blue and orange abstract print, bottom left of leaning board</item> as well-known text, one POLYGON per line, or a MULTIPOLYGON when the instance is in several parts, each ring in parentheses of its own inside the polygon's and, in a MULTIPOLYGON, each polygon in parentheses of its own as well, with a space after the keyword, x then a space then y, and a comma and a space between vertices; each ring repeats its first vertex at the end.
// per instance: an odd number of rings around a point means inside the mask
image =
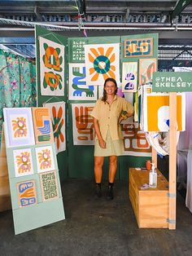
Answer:
POLYGON ((37 192, 34 180, 16 183, 20 207, 37 204, 37 192))

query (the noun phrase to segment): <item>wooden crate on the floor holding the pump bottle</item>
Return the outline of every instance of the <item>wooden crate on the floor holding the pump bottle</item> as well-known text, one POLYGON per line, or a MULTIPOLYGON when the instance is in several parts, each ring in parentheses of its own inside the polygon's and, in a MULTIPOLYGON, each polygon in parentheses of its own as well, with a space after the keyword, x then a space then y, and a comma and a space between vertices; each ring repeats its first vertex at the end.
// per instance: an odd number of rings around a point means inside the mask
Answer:
POLYGON ((129 198, 140 228, 168 228, 168 181, 157 174, 157 188, 142 189, 149 171, 129 169, 129 198))

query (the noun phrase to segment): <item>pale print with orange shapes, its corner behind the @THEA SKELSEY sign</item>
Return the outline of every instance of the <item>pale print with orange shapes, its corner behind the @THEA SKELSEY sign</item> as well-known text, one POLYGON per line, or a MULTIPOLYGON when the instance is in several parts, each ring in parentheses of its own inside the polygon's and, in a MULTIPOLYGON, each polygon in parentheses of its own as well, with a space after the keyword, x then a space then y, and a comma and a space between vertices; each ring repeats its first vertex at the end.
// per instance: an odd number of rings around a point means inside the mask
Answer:
POLYGON ((157 71, 156 59, 139 60, 139 84, 144 85, 152 82, 153 73, 157 71))

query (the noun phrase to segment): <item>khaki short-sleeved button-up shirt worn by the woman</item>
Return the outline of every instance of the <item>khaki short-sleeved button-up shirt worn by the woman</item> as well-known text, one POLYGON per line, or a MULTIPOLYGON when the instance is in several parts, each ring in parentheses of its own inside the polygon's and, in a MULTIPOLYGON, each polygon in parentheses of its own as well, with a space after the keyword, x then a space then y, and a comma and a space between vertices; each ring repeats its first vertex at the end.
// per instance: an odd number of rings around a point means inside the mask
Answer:
POLYGON ((131 115, 133 114, 132 104, 129 104, 124 98, 115 95, 111 106, 102 99, 97 100, 90 115, 98 119, 98 125, 104 140, 107 138, 107 130, 110 131, 112 140, 123 139, 119 124, 119 118, 122 111, 126 111, 131 115))

